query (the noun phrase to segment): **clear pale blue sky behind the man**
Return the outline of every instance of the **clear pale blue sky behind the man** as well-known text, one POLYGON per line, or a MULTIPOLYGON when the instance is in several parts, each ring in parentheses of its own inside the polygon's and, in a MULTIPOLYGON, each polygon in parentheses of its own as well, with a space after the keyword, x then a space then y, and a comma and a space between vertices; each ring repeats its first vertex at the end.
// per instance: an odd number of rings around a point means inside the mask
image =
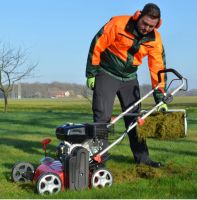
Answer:
MULTIPOLYGON (((161 9, 167 68, 197 88, 196 0, 0 0, 0 44, 28 51, 38 63, 23 82, 85 84, 88 50, 94 35, 112 17, 132 15, 146 3, 161 9)), ((150 84, 147 61, 139 68, 140 84, 150 84)))

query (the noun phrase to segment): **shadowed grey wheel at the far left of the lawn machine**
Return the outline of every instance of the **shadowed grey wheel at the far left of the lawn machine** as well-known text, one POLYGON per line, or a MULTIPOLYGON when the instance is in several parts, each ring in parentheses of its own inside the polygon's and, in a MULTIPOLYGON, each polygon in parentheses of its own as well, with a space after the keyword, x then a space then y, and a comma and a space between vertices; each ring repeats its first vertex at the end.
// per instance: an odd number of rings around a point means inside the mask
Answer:
POLYGON ((34 166, 28 162, 16 163, 12 168, 11 178, 14 182, 31 181, 34 174, 34 166))

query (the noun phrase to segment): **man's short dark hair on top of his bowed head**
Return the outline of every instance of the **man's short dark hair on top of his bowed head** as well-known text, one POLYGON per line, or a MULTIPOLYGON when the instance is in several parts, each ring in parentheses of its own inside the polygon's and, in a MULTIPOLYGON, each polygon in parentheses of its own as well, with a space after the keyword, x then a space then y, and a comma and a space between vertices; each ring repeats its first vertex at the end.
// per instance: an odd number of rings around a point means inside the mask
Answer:
POLYGON ((141 17, 144 15, 148 15, 152 19, 160 19, 161 11, 160 8, 154 3, 148 3, 144 6, 141 11, 141 17))

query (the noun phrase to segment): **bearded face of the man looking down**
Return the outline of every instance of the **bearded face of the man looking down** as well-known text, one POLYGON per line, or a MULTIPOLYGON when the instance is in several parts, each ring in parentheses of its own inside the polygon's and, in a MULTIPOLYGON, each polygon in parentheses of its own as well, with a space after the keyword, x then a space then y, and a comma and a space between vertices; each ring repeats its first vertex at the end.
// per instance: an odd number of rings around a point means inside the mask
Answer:
POLYGON ((151 19, 149 16, 145 15, 141 17, 137 22, 138 31, 142 35, 150 33, 157 25, 159 19, 151 19))

